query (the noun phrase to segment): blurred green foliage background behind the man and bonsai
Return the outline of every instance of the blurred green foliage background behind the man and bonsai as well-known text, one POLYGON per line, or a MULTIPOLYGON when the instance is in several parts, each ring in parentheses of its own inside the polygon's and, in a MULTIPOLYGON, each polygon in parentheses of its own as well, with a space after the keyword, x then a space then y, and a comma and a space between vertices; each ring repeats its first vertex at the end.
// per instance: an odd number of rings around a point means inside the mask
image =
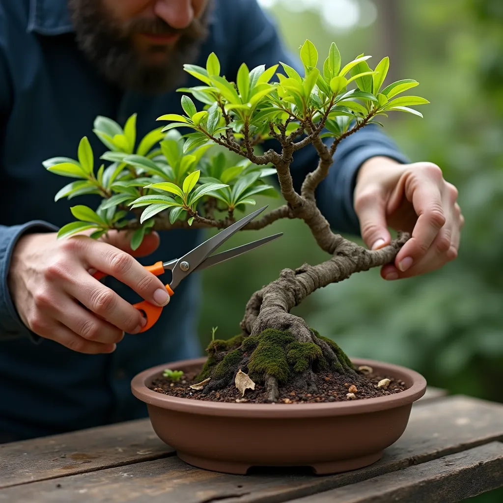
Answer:
MULTIPOLYGON (((390 115, 386 131, 412 161, 441 166, 466 219, 459 257, 442 270, 399 282, 385 282, 378 269, 357 274, 316 292, 295 314, 350 356, 405 365, 432 386, 503 402, 503 2, 262 4, 296 53, 306 38, 322 54, 334 41, 343 62, 365 52, 374 67, 390 56, 387 83, 420 82, 414 94, 431 102, 421 107, 425 118, 390 115)), ((281 269, 326 260, 302 222, 277 222, 253 238, 279 231, 281 239, 203 273, 202 348, 212 326, 221 338, 237 333, 249 296, 281 269)), ((229 247, 249 239, 242 233, 229 247)), ((471 501, 503 501, 503 492, 471 501)))

